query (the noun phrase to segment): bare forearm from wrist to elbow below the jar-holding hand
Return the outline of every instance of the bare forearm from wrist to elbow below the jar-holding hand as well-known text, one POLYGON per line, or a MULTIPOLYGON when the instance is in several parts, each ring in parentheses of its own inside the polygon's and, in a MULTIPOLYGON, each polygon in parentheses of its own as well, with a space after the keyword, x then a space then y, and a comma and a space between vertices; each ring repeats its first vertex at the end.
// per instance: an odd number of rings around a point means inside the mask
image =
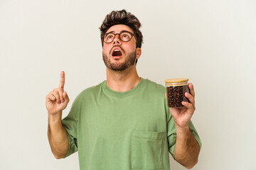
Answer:
POLYGON ((176 126, 176 145, 174 158, 187 169, 191 169, 198 162, 200 148, 189 127, 176 126))

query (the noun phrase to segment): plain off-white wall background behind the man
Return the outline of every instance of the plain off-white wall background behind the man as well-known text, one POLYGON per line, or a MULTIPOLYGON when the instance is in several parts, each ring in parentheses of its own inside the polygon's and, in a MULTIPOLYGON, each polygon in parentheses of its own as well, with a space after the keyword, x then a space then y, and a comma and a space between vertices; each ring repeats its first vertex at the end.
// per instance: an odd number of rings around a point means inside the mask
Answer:
MULTIPOLYGON (((140 77, 188 77, 203 142, 193 169, 256 169, 256 2, 0 0, 0 169, 79 169, 55 159, 45 97, 65 71, 70 103, 106 79, 99 27, 127 9, 142 23, 140 77)), ((185 169, 170 157, 171 169, 185 169)))

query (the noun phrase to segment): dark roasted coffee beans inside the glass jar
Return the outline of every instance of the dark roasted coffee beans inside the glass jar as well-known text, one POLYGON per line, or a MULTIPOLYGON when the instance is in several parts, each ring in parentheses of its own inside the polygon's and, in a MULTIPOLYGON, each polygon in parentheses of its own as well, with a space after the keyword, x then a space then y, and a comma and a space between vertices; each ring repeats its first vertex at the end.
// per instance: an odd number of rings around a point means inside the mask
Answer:
POLYGON ((189 102, 185 97, 185 92, 189 93, 188 85, 185 86, 167 86, 167 101, 170 108, 183 108, 182 101, 189 102))

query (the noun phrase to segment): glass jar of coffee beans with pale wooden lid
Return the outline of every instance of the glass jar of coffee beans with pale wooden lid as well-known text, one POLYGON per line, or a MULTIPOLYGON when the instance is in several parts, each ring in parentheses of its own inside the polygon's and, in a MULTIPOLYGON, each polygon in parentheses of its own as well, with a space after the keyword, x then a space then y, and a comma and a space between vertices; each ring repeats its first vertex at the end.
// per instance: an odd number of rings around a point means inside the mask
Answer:
POLYGON ((185 92, 189 93, 188 79, 166 79, 166 98, 170 108, 184 108, 182 101, 189 102, 185 97, 185 92))

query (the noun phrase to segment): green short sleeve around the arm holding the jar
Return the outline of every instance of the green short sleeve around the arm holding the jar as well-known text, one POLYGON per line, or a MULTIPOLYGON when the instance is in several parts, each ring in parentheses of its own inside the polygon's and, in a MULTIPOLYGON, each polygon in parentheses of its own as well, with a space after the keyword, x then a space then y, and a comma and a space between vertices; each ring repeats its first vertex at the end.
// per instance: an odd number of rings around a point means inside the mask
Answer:
MULTIPOLYGON (((171 156, 174 157, 174 148, 176 145, 176 128, 175 128, 175 124, 174 124, 174 118, 171 116, 171 113, 170 113, 170 110, 169 110, 169 107, 167 106, 167 104, 166 104, 166 114, 167 114, 166 115, 167 139, 168 139, 169 152, 170 152, 171 156)), ((189 121, 188 126, 201 149, 201 146, 202 146, 201 140, 200 140, 198 132, 196 131, 196 128, 194 127, 191 120, 189 121)))

